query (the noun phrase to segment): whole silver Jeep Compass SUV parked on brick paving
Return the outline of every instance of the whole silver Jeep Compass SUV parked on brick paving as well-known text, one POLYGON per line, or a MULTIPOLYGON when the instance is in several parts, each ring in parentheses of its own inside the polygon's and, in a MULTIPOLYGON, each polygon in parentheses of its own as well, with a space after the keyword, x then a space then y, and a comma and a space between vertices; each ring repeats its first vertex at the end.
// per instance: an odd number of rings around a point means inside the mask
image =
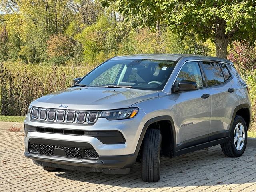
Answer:
POLYGON ((47 171, 106 174, 127 174, 138 160, 142 180, 156 182, 162 156, 218 144, 241 156, 250 116, 249 88, 229 60, 118 56, 31 103, 25 156, 47 171))

